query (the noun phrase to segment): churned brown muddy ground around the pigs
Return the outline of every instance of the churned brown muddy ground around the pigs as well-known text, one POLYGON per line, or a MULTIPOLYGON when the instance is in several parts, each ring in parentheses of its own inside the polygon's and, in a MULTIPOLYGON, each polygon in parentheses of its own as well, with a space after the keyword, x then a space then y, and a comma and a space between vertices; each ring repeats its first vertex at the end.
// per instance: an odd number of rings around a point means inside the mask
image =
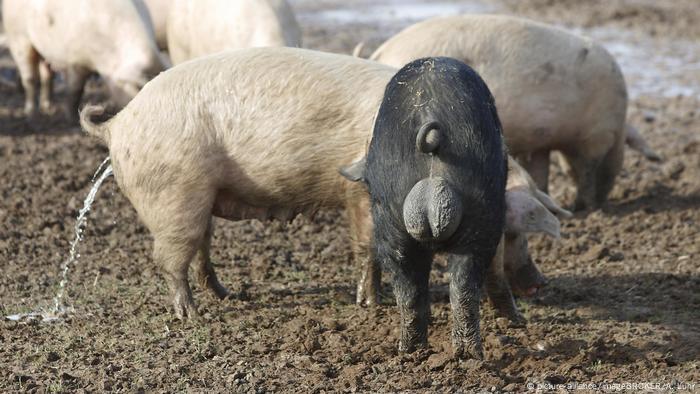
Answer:
MULTIPOLYGON (((350 4, 365 19, 324 19, 353 8, 343 3, 293 2, 306 46, 349 53, 365 40, 369 52, 414 18, 372 19, 364 7, 374 2, 358 0, 350 4)), ((484 303, 485 360, 453 360, 448 275, 437 263, 430 348, 398 354, 388 284, 383 306, 354 304, 357 272, 339 212, 290 225, 219 221, 217 272, 238 296, 219 302, 195 287, 203 319, 182 323, 170 313, 148 231, 109 179, 69 273, 73 311, 51 323, 0 320, 0 391, 521 392, 604 382, 700 390, 697 2, 443 5, 515 13, 610 40, 628 73, 629 120, 666 158, 651 163, 627 152, 607 206, 564 222, 560 242, 532 237, 549 285, 518 301, 526 328, 509 327, 484 303)), ((3 46, 0 74, 13 72, 3 46)), ((92 81, 87 99, 101 92, 92 81)), ((108 154, 58 116, 28 125, 22 100, 0 84, 2 316, 51 305, 76 215, 108 154)), ((553 170, 552 194, 570 202, 571 183, 553 170)))

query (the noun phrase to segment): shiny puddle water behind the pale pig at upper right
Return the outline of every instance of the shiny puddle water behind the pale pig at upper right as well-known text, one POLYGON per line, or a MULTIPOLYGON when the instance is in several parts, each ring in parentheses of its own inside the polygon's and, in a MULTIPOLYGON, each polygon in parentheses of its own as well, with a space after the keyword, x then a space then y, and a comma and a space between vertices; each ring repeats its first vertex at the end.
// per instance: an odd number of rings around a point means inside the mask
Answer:
MULTIPOLYGON (((507 11, 486 0, 292 0, 300 21, 341 29, 344 24, 374 25, 382 41, 423 19, 462 13, 507 11)), ((562 26, 600 42, 620 64, 631 98, 691 96, 700 99, 700 44, 688 40, 654 38, 617 28, 562 26)))

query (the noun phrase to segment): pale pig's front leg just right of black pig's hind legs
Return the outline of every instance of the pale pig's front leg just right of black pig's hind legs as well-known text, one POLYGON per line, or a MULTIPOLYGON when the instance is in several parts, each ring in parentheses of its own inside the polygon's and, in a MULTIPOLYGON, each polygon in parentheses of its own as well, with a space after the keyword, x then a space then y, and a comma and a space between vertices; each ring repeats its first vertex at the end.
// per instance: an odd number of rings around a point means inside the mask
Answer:
POLYGON ((505 247, 505 239, 501 237, 501 242, 498 244, 496 256, 494 256, 488 271, 484 287, 486 294, 489 297, 491 306, 496 309, 500 316, 510 320, 516 326, 523 326, 525 318, 518 312, 513 300, 508 278, 506 278, 503 269, 503 248, 505 247))

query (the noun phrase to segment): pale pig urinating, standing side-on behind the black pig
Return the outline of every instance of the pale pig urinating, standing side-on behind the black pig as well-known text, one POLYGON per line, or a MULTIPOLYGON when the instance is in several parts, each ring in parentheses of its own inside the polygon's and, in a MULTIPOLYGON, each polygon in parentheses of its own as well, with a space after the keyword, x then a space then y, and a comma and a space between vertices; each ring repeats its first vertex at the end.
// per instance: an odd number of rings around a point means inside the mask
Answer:
MULTIPOLYGON (((162 73, 105 123, 91 120, 100 107, 83 109, 83 128, 109 147, 117 183, 153 234, 179 317, 197 313, 187 278, 193 259, 202 286, 228 294, 209 258, 213 216, 290 220, 346 208, 356 258, 365 271, 376 267, 367 192, 338 168, 364 156, 395 72, 343 55, 243 49, 162 73)), ((508 215, 514 229, 558 233, 547 210, 520 212, 542 224, 508 215)), ((501 264, 501 282, 502 272, 501 264)), ((510 296, 504 286, 494 293, 504 289, 510 296)))

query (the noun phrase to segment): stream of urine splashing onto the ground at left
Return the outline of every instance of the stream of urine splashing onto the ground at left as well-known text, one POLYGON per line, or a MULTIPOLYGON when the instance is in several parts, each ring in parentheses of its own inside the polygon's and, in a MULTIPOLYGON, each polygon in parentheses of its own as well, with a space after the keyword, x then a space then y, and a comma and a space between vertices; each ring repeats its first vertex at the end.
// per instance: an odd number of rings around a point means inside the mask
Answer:
POLYGON ((109 157, 107 157, 97 168, 97 171, 95 171, 95 175, 92 177, 92 188, 85 197, 83 208, 78 213, 78 217, 75 221, 75 236, 70 244, 68 258, 61 264, 61 281, 58 285, 58 292, 53 299, 53 307, 48 310, 8 315, 5 316, 6 319, 14 321, 22 319, 41 319, 42 322, 51 322, 73 311, 73 308, 65 305, 63 300, 65 297, 66 285, 68 284, 68 272, 80 258, 80 242, 83 240, 83 232, 87 224, 87 215, 90 212, 92 203, 95 201, 97 191, 100 189, 105 179, 112 175, 112 166, 108 165, 108 163, 109 157))

